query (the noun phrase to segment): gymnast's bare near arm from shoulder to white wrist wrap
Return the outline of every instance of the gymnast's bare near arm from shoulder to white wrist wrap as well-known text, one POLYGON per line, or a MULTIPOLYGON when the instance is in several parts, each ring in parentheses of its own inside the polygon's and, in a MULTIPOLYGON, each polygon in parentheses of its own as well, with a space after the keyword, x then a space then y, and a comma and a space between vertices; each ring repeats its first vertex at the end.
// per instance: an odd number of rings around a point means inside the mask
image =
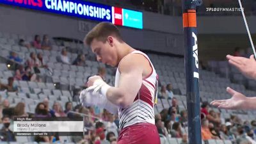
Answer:
POLYGON ((118 87, 111 87, 107 98, 121 108, 129 107, 134 101, 142 84, 143 76, 148 76, 152 68, 141 54, 129 54, 120 61, 118 87))

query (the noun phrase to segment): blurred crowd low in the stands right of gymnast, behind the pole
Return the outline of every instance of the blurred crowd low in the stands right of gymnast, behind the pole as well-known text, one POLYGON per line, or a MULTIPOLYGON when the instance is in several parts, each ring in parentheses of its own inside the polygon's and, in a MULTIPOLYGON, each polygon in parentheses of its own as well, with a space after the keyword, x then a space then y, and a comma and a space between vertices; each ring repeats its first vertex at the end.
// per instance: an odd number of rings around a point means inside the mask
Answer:
MULTIPOLYGON (((155 115, 156 126, 161 136, 182 138, 182 143, 188 143, 187 111, 179 111, 177 99, 172 98, 172 106, 163 109, 155 115)), ((221 117, 220 112, 212 110, 208 102, 201 105, 202 140, 230 140, 232 143, 256 143, 256 120, 242 120, 236 115, 230 118, 221 117)))

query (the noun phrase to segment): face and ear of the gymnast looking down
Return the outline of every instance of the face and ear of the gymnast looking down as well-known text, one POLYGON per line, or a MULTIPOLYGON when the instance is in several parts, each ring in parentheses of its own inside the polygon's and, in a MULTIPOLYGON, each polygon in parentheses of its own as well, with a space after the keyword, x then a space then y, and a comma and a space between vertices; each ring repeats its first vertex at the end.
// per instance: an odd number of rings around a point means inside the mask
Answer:
POLYGON ((108 36, 106 42, 93 39, 91 48, 92 52, 97 56, 97 61, 101 61, 111 67, 116 67, 118 65, 118 56, 114 42, 115 40, 112 36, 108 36))

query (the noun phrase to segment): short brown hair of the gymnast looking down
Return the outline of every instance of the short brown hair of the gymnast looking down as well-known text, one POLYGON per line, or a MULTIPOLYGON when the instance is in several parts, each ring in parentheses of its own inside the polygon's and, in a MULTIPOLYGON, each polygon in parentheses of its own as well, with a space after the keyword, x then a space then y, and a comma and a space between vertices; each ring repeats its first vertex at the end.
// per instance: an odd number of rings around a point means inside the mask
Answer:
POLYGON ((110 22, 100 22, 84 38, 86 45, 91 45, 96 38, 101 42, 106 42, 108 36, 115 36, 119 42, 123 42, 118 28, 110 22))

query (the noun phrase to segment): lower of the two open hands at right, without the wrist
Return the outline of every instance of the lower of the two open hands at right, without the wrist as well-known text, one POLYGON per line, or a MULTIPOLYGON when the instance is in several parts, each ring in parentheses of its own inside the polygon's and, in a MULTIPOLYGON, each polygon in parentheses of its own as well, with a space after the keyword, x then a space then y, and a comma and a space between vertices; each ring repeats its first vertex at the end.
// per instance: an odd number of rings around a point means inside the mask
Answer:
POLYGON ((213 100, 211 105, 223 109, 248 109, 246 106, 248 102, 247 97, 229 87, 227 88, 227 92, 232 95, 230 99, 213 100))

